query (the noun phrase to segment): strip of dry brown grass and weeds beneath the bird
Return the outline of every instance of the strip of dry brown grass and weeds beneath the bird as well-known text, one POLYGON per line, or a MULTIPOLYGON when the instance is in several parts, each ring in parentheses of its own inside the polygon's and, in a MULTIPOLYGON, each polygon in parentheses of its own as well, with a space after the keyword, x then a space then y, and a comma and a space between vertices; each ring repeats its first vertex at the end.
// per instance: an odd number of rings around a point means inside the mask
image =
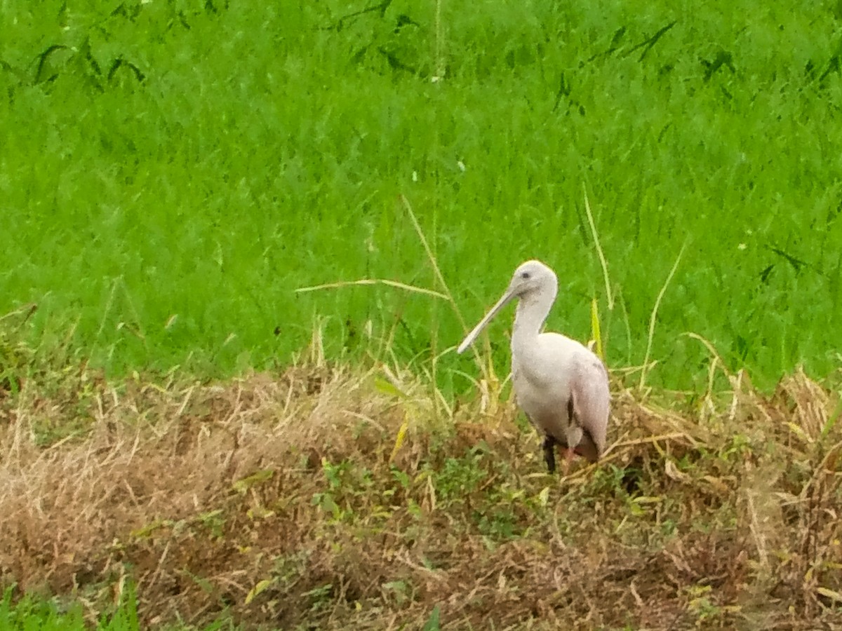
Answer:
POLYGON ((131 578, 143 627, 842 625, 839 397, 801 373, 669 409, 620 391, 567 479, 510 403, 434 420, 382 369, 62 379, 0 395, 0 581, 92 615, 131 578))

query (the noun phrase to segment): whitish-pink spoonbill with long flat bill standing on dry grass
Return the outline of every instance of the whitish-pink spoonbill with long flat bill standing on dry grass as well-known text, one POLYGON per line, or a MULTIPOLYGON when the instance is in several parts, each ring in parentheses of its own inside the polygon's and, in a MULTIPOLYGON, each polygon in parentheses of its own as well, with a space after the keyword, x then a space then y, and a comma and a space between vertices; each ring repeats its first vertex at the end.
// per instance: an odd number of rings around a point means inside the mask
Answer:
POLYGON ((560 333, 541 333, 557 293, 558 280, 551 268, 540 261, 523 263, 457 351, 465 351, 510 300, 519 300, 511 344, 514 395, 544 435, 547 469, 556 470, 558 444, 566 448, 567 473, 573 453, 596 462, 605 450, 610 392, 605 364, 589 348, 560 333))

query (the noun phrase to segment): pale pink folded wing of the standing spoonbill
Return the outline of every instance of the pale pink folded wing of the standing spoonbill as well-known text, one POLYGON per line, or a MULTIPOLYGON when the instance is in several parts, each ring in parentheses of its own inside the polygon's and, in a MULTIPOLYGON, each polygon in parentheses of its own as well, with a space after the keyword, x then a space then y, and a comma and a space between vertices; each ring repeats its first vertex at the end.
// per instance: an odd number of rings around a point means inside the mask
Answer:
POLYGON ((611 399, 608 371, 600 358, 594 355, 578 361, 570 386, 574 416, 571 420, 578 422, 584 432, 576 451, 595 462, 605 451, 611 399))

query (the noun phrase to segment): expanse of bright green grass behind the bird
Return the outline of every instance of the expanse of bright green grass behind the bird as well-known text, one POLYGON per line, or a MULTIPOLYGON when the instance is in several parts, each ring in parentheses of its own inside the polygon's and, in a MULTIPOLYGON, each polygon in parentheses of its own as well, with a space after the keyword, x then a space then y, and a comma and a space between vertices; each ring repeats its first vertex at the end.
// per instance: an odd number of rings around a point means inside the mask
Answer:
MULTIPOLYGON (((686 244, 650 381, 704 383, 685 331, 761 385, 839 365, 835 4, 365 8, 5 3, 0 313, 37 303, 30 342, 111 374, 285 363, 321 317, 333 358, 394 329, 429 363, 463 333, 444 302, 294 292, 436 288, 404 194, 468 321, 539 257, 561 284, 549 326, 589 337, 596 297, 610 365, 637 365, 686 244)), ((470 361, 447 358, 446 388, 470 361)))

